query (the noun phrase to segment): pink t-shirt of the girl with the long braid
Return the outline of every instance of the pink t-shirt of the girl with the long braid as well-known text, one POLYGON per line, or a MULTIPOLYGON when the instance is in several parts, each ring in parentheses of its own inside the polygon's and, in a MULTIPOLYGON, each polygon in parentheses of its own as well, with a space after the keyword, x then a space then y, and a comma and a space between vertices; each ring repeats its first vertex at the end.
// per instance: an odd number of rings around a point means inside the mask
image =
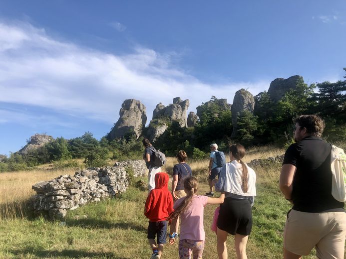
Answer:
MULTIPOLYGON (((185 197, 177 200, 173 206, 176 209, 185 197)), ((194 195, 191 203, 180 214, 180 239, 204 240, 203 227, 204 207, 207 205, 207 196, 194 195)))

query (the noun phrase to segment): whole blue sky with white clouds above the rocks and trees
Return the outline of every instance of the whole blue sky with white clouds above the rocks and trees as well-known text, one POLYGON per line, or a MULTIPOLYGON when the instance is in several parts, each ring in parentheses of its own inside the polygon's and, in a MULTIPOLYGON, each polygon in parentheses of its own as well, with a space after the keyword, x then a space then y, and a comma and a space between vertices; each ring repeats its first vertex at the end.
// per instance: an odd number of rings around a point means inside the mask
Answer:
POLYGON ((0 0, 0 154, 104 136, 125 99, 233 102, 272 80, 343 80, 345 0, 0 0))

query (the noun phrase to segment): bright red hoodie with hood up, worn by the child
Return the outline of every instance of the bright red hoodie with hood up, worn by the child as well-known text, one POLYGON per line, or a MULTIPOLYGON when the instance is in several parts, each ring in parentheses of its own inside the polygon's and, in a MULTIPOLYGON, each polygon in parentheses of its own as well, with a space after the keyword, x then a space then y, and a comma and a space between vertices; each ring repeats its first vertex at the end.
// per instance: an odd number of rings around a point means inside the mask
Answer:
POLYGON ((155 174, 155 189, 152 189, 145 202, 144 215, 150 222, 164 221, 173 212, 173 197, 168 191, 167 173, 155 174))

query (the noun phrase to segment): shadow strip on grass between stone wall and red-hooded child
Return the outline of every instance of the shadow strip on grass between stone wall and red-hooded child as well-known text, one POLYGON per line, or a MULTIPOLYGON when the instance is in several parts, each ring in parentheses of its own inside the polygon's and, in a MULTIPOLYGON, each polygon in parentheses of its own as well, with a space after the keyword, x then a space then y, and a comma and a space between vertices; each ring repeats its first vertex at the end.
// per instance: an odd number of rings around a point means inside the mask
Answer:
POLYGON ((82 228, 99 228, 99 229, 122 229, 122 230, 135 230, 138 232, 146 232, 147 229, 134 222, 117 222, 111 223, 106 220, 97 219, 68 219, 66 220, 68 227, 82 227, 82 228))

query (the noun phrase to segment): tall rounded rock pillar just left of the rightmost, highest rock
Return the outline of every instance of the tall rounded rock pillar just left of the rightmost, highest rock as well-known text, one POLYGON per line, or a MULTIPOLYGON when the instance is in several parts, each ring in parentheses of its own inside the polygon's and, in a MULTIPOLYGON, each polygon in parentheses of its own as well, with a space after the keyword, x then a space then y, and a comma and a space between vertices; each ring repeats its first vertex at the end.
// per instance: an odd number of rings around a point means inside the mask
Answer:
POLYGON ((255 98, 254 96, 245 89, 240 89, 236 92, 232 104, 232 124, 233 131, 231 137, 237 135, 237 117, 240 116, 244 111, 254 112, 255 98))

